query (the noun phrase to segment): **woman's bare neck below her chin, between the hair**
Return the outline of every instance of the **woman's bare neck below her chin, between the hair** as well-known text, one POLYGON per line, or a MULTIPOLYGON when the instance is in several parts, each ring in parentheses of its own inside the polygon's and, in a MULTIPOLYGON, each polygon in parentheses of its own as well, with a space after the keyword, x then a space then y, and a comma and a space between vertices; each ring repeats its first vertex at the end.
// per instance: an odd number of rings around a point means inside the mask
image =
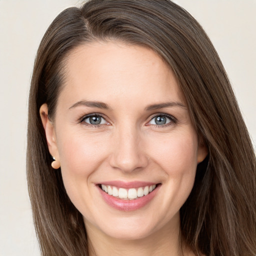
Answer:
POLYGON ((118 239, 108 236, 91 223, 85 222, 89 256, 190 256, 181 250, 179 216, 175 225, 169 223, 155 232, 139 239, 118 239))

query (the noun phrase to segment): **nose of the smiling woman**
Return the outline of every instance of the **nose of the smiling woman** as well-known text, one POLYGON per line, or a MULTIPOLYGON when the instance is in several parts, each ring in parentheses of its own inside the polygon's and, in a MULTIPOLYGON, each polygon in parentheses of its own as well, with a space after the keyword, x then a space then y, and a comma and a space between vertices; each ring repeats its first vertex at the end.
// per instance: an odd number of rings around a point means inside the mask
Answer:
POLYGON ((135 127, 119 127, 111 145, 113 149, 109 163, 113 168, 131 172, 148 164, 142 136, 135 127))

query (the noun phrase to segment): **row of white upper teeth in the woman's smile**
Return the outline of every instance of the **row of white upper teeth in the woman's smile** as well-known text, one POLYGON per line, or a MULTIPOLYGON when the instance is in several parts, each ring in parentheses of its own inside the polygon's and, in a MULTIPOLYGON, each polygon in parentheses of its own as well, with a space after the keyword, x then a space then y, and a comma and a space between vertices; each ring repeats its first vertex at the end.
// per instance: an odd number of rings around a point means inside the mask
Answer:
POLYGON ((137 188, 122 188, 110 185, 99 184, 98 186, 107 194, 123 200, 134 200, 151 193, 158 184, 141 186, 137 188))

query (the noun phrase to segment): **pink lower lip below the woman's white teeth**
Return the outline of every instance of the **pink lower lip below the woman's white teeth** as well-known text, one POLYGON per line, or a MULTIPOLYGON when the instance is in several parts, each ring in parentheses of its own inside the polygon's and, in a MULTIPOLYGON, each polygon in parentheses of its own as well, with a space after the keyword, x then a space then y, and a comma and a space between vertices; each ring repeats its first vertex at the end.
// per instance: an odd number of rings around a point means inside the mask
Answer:
POLYGON ((133 199, 133 200, 123 200, 123 199, 116 198, 112 195, 109 195, 105 191, 103 191, 99 186, 97 187, 99 189, 101 196, 103 197, 103 199, 108 205, 110 205, 111 207, 117 210, 132 211, 132 210, 137 210, 139 208, 142 208, 147 203, 149 203, 157 193, 160 185, 158 184, 155 187, 155 189, 152 192, 148 193, 147 195, 138 197, 137 199, 133 199))

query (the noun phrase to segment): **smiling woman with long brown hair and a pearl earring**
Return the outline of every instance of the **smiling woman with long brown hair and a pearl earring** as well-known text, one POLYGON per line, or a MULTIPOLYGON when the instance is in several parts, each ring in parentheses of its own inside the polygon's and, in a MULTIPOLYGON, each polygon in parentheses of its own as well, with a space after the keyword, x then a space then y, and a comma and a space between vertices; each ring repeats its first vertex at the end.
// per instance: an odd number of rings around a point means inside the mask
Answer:
POLYGON ((27 178, 42 255, 256 254, 247 129, 205 32, 169 0, 89 0, 54 19, 27 178))

